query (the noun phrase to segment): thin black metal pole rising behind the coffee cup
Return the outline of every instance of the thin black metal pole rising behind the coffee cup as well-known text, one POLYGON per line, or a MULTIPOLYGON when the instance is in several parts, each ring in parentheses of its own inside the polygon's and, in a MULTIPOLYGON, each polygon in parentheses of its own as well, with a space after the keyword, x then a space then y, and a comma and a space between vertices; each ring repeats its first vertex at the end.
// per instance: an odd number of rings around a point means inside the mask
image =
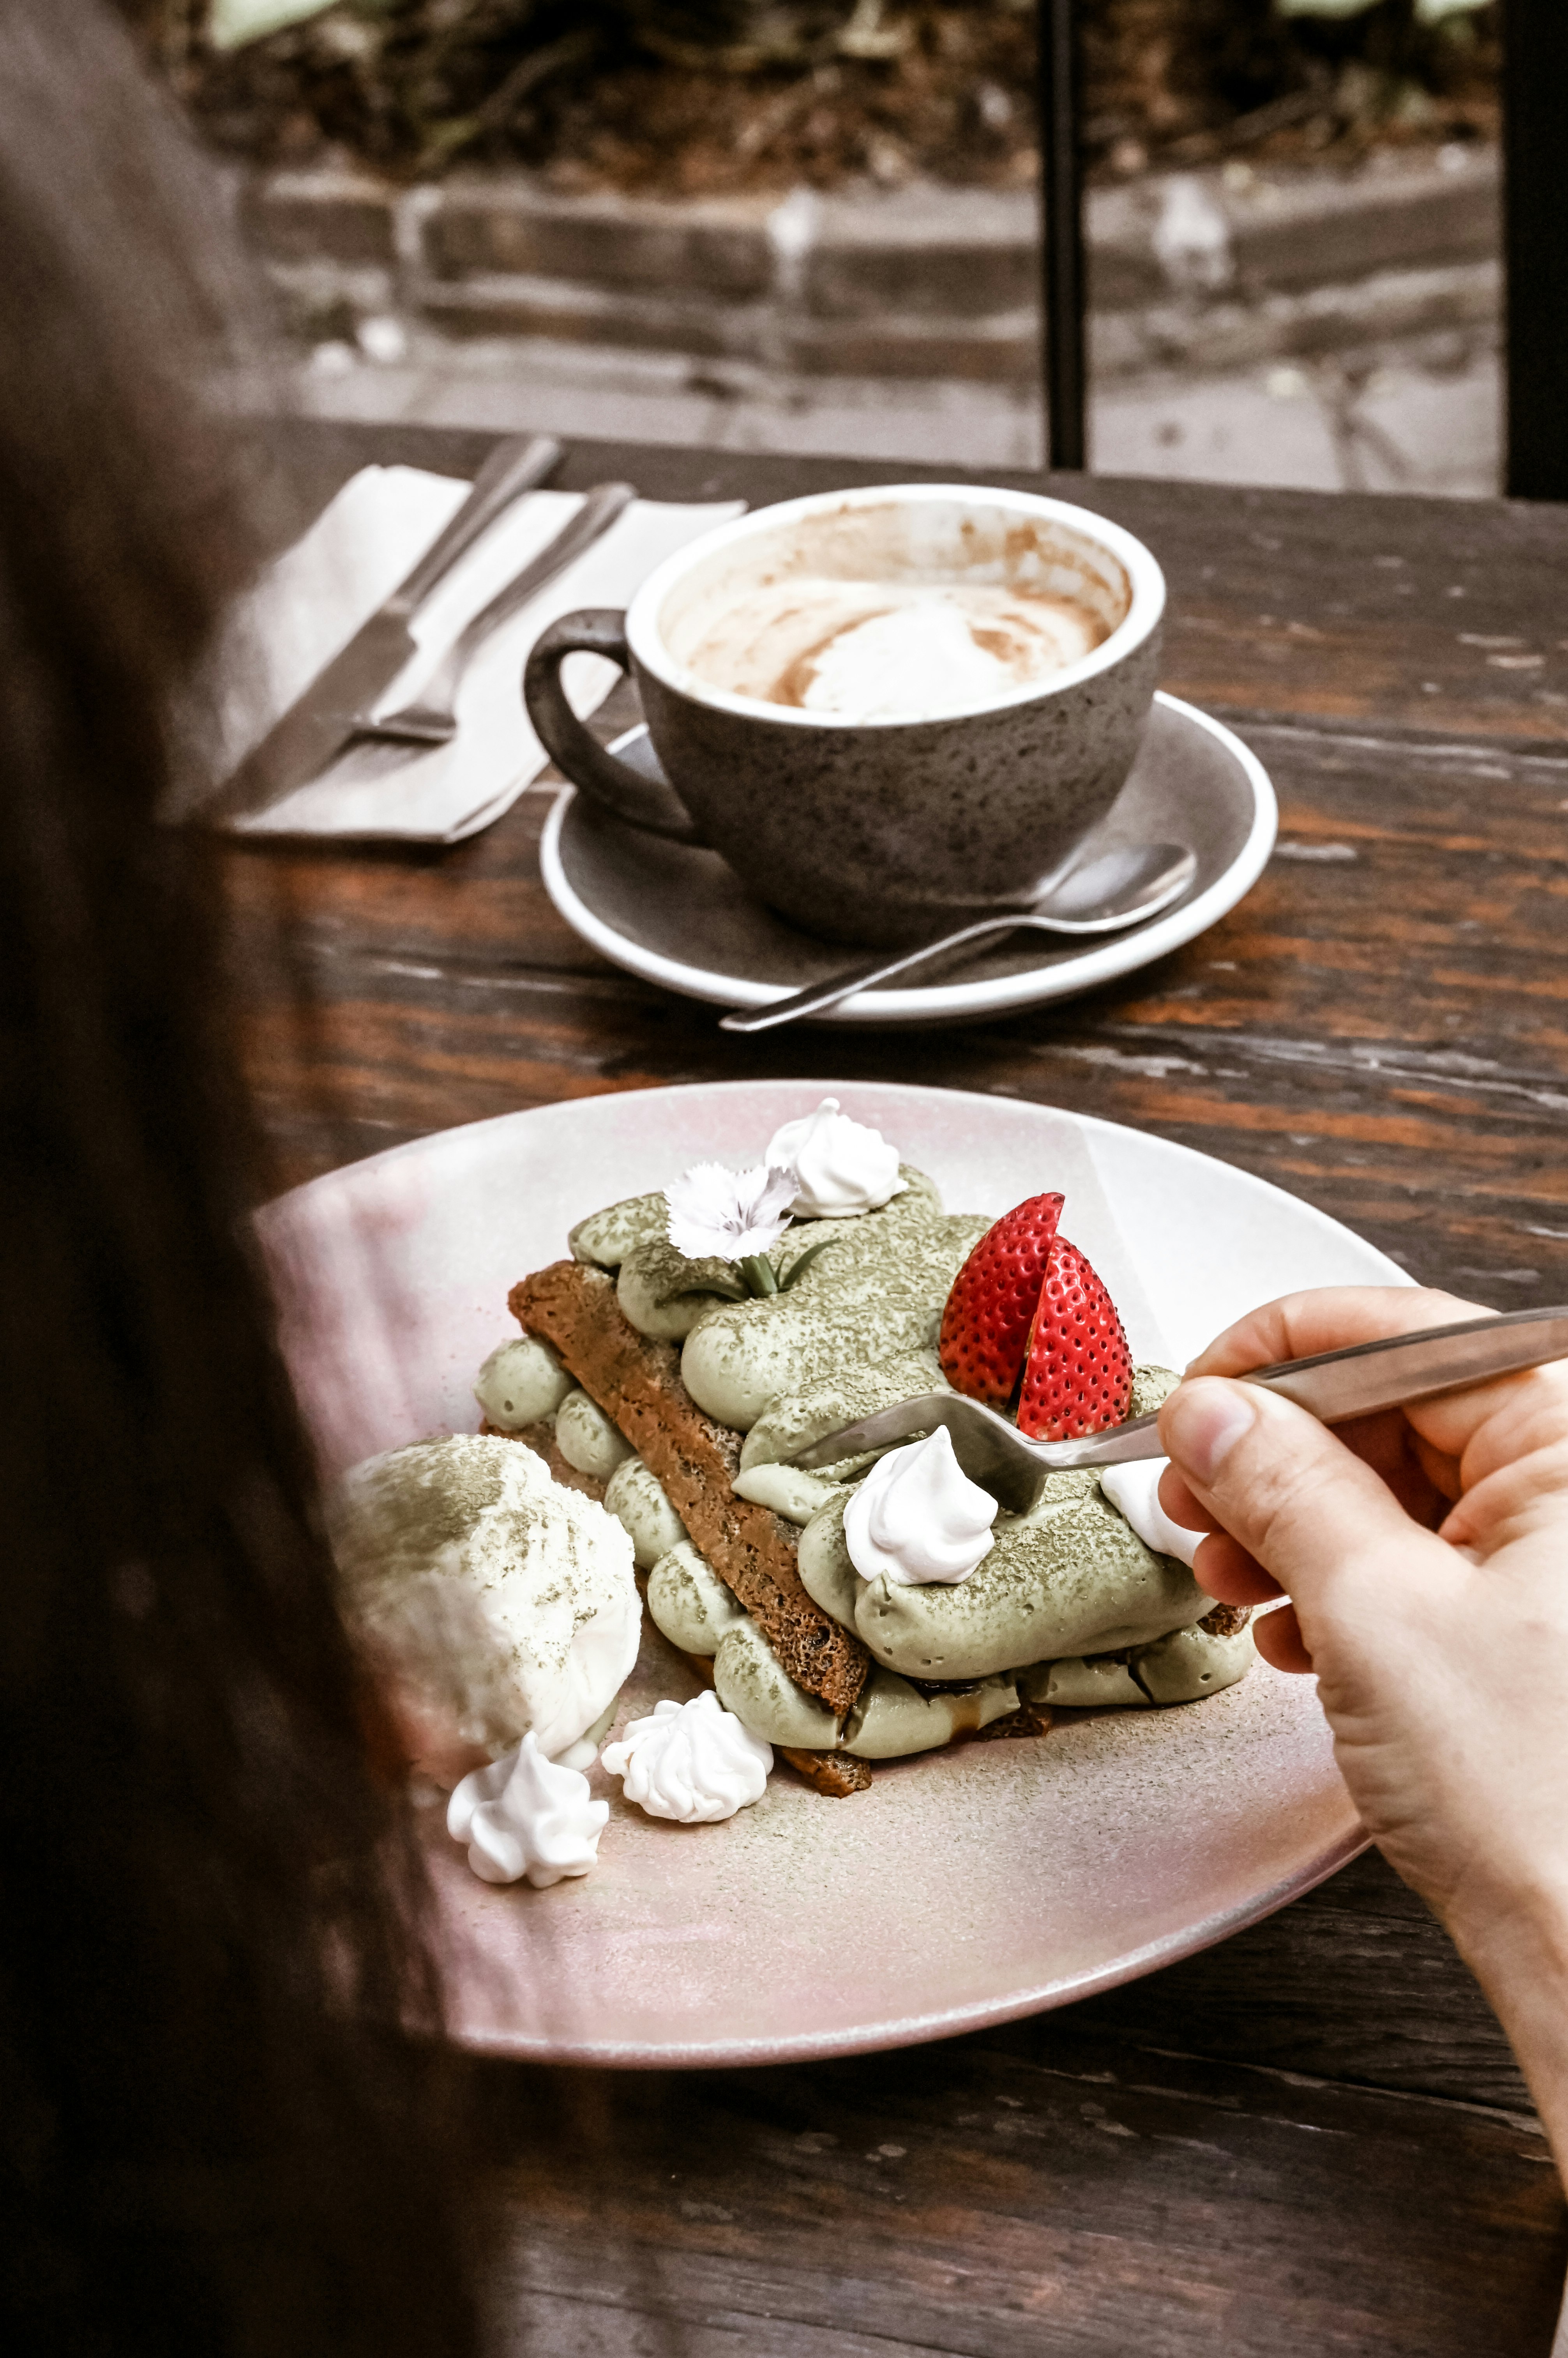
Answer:
POLYGON ((1073 469, 1085 465, 1087 382, 1080 90, 1078 0, 1040 0, 1045 450, 1049 467, 1073 469))

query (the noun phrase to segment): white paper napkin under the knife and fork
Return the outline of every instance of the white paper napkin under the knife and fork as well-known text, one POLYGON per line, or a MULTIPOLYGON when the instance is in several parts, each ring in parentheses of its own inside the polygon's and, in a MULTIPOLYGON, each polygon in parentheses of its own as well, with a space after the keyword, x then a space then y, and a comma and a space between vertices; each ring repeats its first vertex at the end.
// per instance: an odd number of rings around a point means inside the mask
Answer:
MULTIPOLYGON (((417 467, 365 467, 337 493, 233 613, 219 648, 219 776, 347 646, 403 580, 469 483, 417 467)), ((653 566, 745 502, 677 507, 634 500, 582 556, 472 658, 457 693, 457 736, 420 752, 356 743, 269 811, 236 821, 241 835, 347 835, 455 844, 488 828, 547 764, 523 712, 523 660, 547 623, 575 606, 625 606, 653 566)), ((575 490, 535 490, 490 526, 413 623, 420 648, 380 710, 410 703, 469 615, 521 573, 582 507, 575 490)), ((580 714, 615 684, 601 656, 568 656, 566 691, 580 714)))

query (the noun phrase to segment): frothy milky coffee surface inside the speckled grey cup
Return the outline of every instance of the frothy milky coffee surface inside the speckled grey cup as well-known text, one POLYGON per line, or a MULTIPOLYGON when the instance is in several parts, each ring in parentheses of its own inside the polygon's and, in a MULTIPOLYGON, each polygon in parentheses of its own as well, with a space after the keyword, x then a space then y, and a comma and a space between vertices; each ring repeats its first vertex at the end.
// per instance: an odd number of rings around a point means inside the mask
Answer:
POLYGON ((990 582, 802 580, 745 592, 689 665, 707 686, 844 719, 995 703, 1080 663, 1108 625, 990 582))

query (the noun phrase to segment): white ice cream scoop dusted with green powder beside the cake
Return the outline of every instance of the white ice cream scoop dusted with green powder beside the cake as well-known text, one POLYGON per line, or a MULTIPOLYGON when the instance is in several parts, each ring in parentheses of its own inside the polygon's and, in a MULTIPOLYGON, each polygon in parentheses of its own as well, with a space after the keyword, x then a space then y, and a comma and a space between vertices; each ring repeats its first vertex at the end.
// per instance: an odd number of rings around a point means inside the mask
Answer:
POLYGON ((531 1731, 554 1759, 637 1660, 632 1540, 516 1441, 455 1434, 368 1457, 332 1502, 332 1544, 431 1771, 436 1752, 498 1752, 531 1731))

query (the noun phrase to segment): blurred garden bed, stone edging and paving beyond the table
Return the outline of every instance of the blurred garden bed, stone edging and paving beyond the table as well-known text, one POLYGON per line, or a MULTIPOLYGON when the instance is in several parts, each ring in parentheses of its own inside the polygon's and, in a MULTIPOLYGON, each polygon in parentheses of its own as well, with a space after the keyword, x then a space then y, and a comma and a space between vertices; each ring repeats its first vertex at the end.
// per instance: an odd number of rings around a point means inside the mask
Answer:
MULTIPOLYGON (((1035 0, 120 0, 307 413, 1037 465, 1035 0)), ((1500 9, 1082 0, 1089 462, 1500 488, 1500 9)))

